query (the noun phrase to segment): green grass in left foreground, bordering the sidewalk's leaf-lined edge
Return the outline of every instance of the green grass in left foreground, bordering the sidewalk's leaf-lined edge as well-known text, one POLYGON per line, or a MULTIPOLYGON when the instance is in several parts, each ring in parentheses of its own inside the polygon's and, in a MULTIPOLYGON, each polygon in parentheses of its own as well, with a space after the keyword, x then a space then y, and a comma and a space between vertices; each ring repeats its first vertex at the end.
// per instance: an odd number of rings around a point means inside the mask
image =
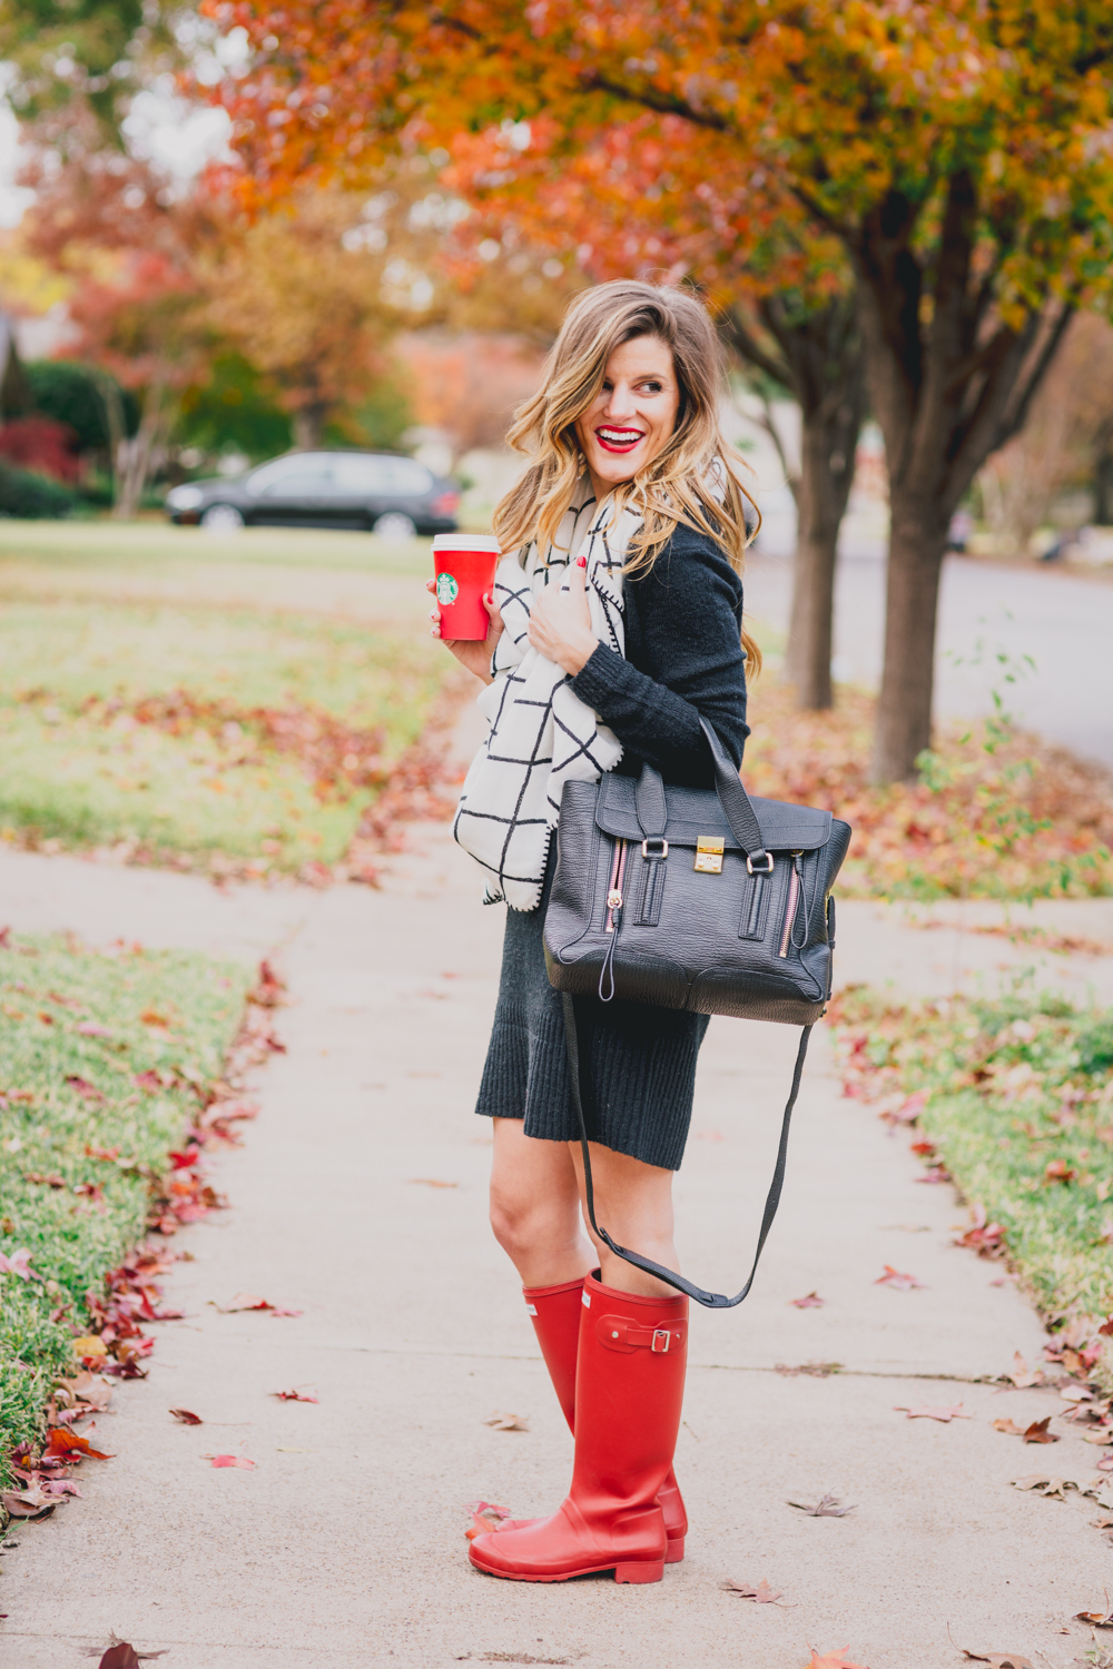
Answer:
POLYGON ((8 1449, 40 1432, 52 1380, 73 1365, 85 1293, 103 1290, 103 1275, 142 1240, 149 1183, 138 1167, 165 1170, 199 1107, 187 1080, 220 1077, 249 983, 245 968, 177 951, 103 955, 43 938, 0 950, 0 1252, 27 1248, 40 1277, 0 1275, 0 1477, 8 1449), (82 1035, 87 1021, 110 1036, 82 1035), (152 1068, 169 1088, 135 1083, 152 1068), (87 1147, 118 1147, 120 1163, 87 1147), (103 1197, 77 1195, 82 1183, 103 1197))

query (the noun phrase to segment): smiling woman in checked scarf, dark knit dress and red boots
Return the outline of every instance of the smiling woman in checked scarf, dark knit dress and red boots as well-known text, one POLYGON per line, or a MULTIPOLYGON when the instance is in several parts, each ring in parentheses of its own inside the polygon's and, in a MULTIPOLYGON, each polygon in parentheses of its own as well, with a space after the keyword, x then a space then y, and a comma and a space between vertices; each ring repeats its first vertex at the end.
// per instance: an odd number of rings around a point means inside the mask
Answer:
MULTIPOLYGON (((739 581, 753 501, 719 429, 721 391, 718 337, 694 295, 626 280, 579 295, 511 429, 532 462, 494 516, 517 554, 486 599, 487 641, 447 644, 489 686, 491 719, 456 838, 484 866, 487 900, 511 905, 477 1105, 494 1127, 491 1222, 576 1439, 561 1510, 472 1542, 481 1571, 517 1581, 614 1569, 619 1582, 657 1582, 684 1557, 672 1452, 687 1300, 584 1235, 541 933, 564 781, 637 774, 649 759, 666 781, 711 786, 701 716, 741 764, 746 659, 759 664, 739 581)), ((436 609, 431 619, 439 636, 436 609)), ((676 1268, 672 1172, 708 1020, 576 1005, 591 1040, 597 1217, 619 1245, 676 1268)))

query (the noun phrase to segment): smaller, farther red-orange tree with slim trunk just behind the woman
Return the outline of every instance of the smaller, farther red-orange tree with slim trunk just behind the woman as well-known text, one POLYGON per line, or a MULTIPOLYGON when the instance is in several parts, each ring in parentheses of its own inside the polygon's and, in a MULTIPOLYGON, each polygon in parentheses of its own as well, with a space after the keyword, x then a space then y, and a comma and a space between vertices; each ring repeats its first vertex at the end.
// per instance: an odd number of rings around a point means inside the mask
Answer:
POLYGON ((829 708, 834 562, 866 407, 846 257, 764 170, 721 179, 677 117, 611 122, 572 150, 549 120, 522 137, 502 124, 452 140, 444 177, 479 209, 459 234, 559 250, 594 280, 694 282, 734 357, 794 397, 798 466, 766 424, 798 509, 786 671, 801 708, 829 708))

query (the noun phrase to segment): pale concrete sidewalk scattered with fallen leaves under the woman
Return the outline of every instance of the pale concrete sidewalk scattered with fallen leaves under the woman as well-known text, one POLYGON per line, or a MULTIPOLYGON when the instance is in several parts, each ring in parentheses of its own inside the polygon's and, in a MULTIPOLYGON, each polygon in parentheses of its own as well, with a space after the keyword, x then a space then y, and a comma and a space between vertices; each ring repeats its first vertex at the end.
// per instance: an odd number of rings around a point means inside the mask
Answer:
MULTIPOLYGON (((1000 1268, 951 1247, 964 1212, 916 1182, 903 1137, 839 1097, 816 1036, 781 1217, 753 1298, 699 1312, 677 1475, 687 1559, 652 1587, 529 1586, 471 1571, 462 1504, 552 1510, 571 1439, 514 1272, 486 1227, 487 1127, 471 1112, 497 983, 502 913, 442 828, 414 831, 379 893, 217 893, 180 875, 0 856, 0 920, 257 956, 279 948, 289 1053, 260 1078, 242 1150, 214 1162, 229 1212, 179 1235, 145 1384, 123 1384, 98 1437, 117 1459, 85 1499, 13 1529, 3 1669, 77 1666, 108 1631, 169 1649, 169 1669, 340 1669, 474 1662, 798 1669, 808 1644, 869 1669, 944 1669, 1015 1651, 1066 1669, 1090 1644, 1110 1549, 1091 1502, 1033 1499, 1025 1472, 1088 1480, 1096 1452, 993 1430, 1056 1414, 1051 1390, 980 1377, 1040 1355, 1043 1334, 1000 1268), (878 1287, 884 1263, 923 1290, 878 1287), (826 1307, 789 1300, 818 1288, 826 1307), (220 1315, 247 1290, 300 1319, 220 1315), (786 1375, 778 1364, 838 1360, 786 1375), (312 1387, 320 1402, 267 1392, 312 1387), (973 1419, 908 1420, 896 1404, 973 1419), (189 1407, 202 1427, 182 1427, 189 1407), (484 1425, 529 1415, 527 1432, 484 1425), (239 1452, 254 1472, 214 1470, 239 1452), (786 1502, 854 1502, 813 1519, 786 1502), (724 1579, 768 1577, 779 1606, 724 1579)), ((983 906, 978 906, 980 910, 983 906)), ((1063 958, 978 936, 978 911, 923 931, 839 906, 839 978, 938 993, 1036 978, 1113 1000, 1113 956, 1063 958)), ((1106 903, 1056 906, 1055 931, 1113 941, 1106 903), (1070 923, 1070 926, 1063 925, 1070 923)), ((943 918, 948 911, 939 913, 943 918)), ((954 915, 954 911, 949 911, 954 915)), ((1026 918, 1025 918, 1026 920, 1026 918)), ((686 1268, 741 1283, 796 1038, 713 1021, 677 1178, 686 1268)))

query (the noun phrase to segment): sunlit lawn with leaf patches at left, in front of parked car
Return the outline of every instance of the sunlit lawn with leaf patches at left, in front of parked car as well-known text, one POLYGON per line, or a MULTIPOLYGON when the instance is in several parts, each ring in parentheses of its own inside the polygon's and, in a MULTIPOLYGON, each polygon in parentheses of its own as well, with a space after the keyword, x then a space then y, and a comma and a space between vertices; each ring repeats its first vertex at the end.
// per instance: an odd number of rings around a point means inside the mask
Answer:
POLYGON ((257 875, 339 863, 452 663, 415 629, 269 609, 262 566, 260 606, 229 606, 214 592, 212 564, 234 547, 237 562, 247 552, 304 567, 312 598, 314 561, 359 559, 372 571, 362 606, 374 609, 375 562, 417 587, 429 559, 421 541, 377 546, 280 529, 219 541, 162 522, 0 522, 0 838, 202 866, 230 860, 257 875), (5 598, 5 556, 30 557, 53 594, 5 598), (179 571, 187 564, 187 604, 65 594, 67 581, 122 574, 142 592, 167 557, 179 571), (192 711, 137 721, 150 698, 175 693, 192 711), (290 721, 282 744, 275 716, 290 721), (322 751, 315 738, 330 728, 322 751))

